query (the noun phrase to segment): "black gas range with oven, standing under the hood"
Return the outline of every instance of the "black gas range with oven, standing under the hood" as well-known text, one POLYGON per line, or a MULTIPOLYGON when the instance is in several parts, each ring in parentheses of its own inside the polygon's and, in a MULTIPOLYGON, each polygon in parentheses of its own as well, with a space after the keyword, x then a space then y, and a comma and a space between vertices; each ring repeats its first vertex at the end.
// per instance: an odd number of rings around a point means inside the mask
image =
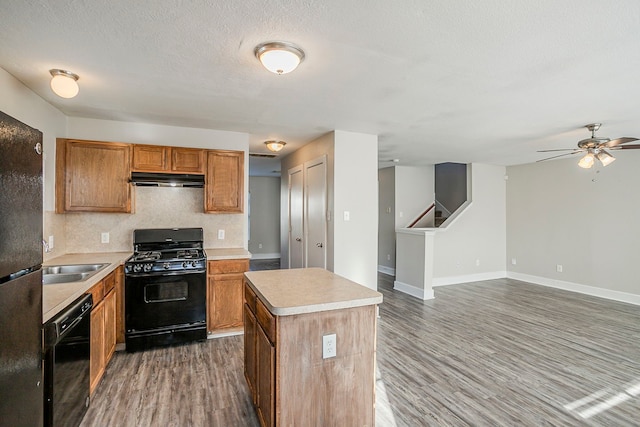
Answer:
POLYGON ((207 338, 202 228, 139 229, 125 262, 128 351, 207 338))

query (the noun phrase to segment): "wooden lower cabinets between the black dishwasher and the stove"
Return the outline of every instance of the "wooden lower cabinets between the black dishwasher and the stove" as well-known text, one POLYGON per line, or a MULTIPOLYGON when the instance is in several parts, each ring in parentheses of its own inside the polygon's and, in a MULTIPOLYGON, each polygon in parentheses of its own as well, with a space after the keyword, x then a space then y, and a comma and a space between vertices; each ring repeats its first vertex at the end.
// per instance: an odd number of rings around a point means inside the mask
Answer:
POLYGON ((122 267, 118 267, 100 282, 91 287, 93 296, 91 310, 91 354, 90 354, 90 393, 96 389, 104 371, 113 356, 117 340, 117 287, 118 275, 122 275, 122 267))

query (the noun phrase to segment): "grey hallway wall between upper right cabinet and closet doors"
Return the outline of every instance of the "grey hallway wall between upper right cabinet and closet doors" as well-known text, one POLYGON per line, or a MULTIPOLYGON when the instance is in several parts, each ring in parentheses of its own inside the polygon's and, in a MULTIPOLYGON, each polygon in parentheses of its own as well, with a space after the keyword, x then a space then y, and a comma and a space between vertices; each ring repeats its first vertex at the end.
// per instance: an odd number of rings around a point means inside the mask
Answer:
POLYGON ((280 258, 280 177, 249 177, 249 194, 249 252, 280 258))

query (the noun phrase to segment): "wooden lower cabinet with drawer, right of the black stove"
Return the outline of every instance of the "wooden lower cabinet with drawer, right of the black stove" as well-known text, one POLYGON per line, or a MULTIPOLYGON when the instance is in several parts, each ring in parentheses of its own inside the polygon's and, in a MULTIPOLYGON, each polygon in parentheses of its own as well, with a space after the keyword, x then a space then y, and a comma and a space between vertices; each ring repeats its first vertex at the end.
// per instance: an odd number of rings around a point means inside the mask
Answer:
POLYGON ((248 259, 209 261, 207 265, 207 331, 242 331, 242 285, 248 259))

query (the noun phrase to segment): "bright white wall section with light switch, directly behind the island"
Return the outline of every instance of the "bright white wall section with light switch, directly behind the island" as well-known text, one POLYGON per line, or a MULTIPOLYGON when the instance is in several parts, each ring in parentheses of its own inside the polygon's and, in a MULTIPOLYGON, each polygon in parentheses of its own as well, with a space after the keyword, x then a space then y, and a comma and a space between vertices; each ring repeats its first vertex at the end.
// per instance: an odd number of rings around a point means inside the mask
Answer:
POLYGON ((377 289, 378 136, 336 130, 334 167, 333 271, 377 289))

